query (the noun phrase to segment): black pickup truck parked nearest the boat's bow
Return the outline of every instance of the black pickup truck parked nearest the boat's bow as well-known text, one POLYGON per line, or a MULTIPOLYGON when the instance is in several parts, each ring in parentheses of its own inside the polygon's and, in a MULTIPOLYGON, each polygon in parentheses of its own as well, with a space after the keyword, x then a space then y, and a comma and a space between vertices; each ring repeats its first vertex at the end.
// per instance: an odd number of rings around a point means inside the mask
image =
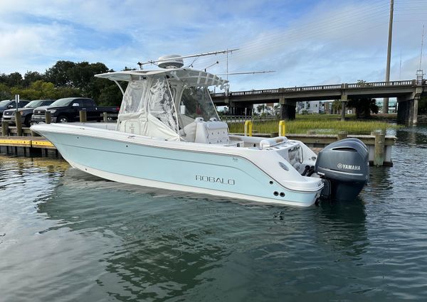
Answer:
POLYGON ((97 106, 93 99, 86 97, 65 97, 58 99, 50 106, 37 107, 34 109, 31 122, 46 122, 45 112, 49 110, 53 123, 78 122, 80 120, 80 110, 86 111, 86 117, 89 121, 102 121, 102 113, 118 114, 119 107, 115 106, 97 106))

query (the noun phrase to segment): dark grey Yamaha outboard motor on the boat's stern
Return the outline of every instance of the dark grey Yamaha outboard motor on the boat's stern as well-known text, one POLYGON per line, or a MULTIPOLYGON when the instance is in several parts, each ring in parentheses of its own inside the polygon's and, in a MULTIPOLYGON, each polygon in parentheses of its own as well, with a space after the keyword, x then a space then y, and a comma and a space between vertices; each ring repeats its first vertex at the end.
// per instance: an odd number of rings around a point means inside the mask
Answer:
POLYGON ((369 180, 369 154, 359 139, 329 144, 317 156, 315 171, 324 182, 321 198, 354 200, 369 180))

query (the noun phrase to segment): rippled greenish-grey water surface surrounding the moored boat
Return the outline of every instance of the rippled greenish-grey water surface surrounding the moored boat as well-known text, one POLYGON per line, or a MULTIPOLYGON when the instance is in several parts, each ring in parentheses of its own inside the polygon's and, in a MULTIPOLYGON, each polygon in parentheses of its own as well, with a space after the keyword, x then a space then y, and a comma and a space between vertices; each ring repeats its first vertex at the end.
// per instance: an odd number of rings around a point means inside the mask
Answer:
POLYGON ((0 156, 0 301, 426 301, 427 127, 352 203, 295 208, 0 156))

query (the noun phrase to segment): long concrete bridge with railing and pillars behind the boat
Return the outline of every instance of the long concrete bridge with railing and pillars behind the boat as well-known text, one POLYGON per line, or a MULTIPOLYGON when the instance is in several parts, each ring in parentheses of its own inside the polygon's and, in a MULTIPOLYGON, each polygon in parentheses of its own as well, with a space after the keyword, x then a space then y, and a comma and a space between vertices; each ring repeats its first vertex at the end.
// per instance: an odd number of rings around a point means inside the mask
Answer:
POLYGON ((279 103, 281 119, 295 119, 296 102, 340 99, 344 119, 349 99, 396 97, 398 122, 416 124, 418 102, 424 95, 427 95, 426 80, 403 80, 222 92, 213 93, 211 97, 214 104, 228 106, 229 112, 236 115, 251 112, 253 104, 279 103))

